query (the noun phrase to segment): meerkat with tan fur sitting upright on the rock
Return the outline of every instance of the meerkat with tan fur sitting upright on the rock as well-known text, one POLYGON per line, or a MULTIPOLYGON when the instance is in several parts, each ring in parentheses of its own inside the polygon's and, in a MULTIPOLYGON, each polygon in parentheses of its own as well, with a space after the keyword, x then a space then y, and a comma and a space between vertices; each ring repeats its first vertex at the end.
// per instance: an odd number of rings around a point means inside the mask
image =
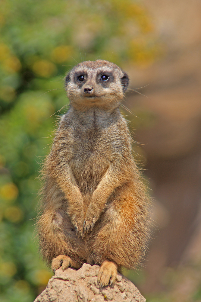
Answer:
POLYGON ((127 74, 105 60, 65 77, 70 108, 61 117, 42 174, 40 248, 52 270, 98 264, 100 286, 135 268, 149 238, 149 197, 119 106, 127 74))

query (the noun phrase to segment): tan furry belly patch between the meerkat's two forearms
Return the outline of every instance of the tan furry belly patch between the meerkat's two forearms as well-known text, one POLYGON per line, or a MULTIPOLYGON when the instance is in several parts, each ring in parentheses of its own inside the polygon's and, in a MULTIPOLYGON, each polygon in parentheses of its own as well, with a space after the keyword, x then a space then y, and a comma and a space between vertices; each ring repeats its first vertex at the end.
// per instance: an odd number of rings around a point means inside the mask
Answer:
POLYGON ((82 193, 92 193, 108 169, 110 162, 97 151, 85 151, 70 162, 74 178, 82 193))

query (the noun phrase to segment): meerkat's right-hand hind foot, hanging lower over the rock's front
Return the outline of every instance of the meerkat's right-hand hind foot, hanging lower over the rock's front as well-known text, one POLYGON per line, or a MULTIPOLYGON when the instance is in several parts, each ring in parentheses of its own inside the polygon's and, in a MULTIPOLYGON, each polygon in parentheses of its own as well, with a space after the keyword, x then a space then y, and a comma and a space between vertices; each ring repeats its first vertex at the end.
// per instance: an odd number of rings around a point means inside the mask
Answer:
POLYGON ((114 285, 117 276, 117 265, 111 261, 104 261, 99 269, 98 283, 100 287, 114 285))

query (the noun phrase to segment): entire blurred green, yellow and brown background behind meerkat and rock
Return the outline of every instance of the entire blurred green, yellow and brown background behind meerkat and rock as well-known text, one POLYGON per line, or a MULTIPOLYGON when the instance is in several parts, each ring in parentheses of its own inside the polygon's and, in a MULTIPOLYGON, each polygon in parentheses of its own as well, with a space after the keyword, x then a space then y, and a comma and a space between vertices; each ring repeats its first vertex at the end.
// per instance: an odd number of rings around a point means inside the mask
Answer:
POLYGON ((122 113, 153 198, 144 267, 124 274, 148 302, 201 301, 200 48, 198 0, 0 1, 2 302, 33 301, 52 276, 34 235, 39 170, 66 72, 98 58, 129 74, 122 113))

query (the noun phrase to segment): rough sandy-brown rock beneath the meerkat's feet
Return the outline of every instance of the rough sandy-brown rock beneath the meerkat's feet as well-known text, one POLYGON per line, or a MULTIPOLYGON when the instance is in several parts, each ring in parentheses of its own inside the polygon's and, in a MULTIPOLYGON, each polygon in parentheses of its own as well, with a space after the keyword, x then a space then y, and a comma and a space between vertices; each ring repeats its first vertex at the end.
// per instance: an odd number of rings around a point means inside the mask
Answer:
POLYGON ((146 302, 135 285, 120 273, 114 286, 100 288, 97 283, 99 268, 99 265, 86 263, 78 270, 59 268, 34 302, 146 302))

